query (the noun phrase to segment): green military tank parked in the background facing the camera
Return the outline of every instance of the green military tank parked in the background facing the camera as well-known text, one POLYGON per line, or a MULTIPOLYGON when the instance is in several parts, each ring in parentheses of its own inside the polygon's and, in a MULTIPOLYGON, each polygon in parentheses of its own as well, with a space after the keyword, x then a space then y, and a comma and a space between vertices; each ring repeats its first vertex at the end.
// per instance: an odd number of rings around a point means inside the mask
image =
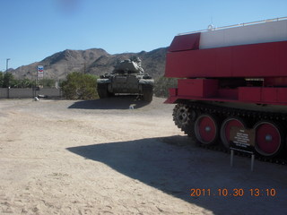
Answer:
POLYGON ((144 73, 139 57, 118 61, 112 73, 100 75, 97 90, 100 99, 115 95, 139 95, 151 102, 154 80, 144 73))

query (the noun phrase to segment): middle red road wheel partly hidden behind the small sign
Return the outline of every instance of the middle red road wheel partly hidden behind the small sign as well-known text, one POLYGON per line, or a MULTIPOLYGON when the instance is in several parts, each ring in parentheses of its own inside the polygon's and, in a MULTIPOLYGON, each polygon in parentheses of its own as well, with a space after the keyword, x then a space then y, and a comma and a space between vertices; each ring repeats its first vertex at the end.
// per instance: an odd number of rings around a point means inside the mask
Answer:
POLYGON ((237 117, 228 117, 223 121, 220 133, 222 144, 226 149, 230 149, 230 128, 233 126, 244 129, 246 124, 242 119, 237 117))

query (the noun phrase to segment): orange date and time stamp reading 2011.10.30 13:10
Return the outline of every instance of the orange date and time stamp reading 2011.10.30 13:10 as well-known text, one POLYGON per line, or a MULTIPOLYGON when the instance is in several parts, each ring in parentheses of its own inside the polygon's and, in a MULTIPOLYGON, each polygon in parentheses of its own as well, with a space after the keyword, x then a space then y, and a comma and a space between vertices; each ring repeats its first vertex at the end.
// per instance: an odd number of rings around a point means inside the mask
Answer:
POLYGON ((242 196, 276 196, 276 189, 275 188, 217 188, 217 189, 210 189, 210 188, 191 188, 190 189, 190 196, 235 196, 235 197, 242 197, 242 196))

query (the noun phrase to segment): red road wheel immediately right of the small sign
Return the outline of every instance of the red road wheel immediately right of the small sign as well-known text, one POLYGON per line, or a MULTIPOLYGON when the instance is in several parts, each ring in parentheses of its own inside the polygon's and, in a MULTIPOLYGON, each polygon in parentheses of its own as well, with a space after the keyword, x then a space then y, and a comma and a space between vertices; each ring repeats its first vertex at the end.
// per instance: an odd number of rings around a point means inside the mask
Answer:
POLYGON ((274 157, 283 148, 283 133, 274 122, 260 121, 254 125, 256 131, 255 149, 265 157, 274 157))

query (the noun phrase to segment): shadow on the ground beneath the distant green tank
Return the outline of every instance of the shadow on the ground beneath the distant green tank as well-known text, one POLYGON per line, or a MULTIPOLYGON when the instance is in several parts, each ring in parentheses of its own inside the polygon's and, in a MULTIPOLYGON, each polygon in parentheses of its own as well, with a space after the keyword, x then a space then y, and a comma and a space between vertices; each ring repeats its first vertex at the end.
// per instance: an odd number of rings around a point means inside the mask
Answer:
POLYGON ((107 99, 77 101, 69 108, 76 109, 129 109, 150 104, 137 96, 115 96, 107 99))

